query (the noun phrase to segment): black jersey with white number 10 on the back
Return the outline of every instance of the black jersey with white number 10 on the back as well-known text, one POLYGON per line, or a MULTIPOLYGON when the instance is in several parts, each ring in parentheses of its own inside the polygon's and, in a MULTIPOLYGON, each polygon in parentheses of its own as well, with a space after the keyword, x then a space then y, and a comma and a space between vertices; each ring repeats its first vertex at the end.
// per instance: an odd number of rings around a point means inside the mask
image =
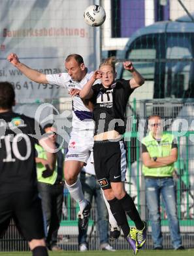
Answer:
POLYGON ((14 112, 0 113, 0 194, 37 189, 37 139, 31 135, 38 133, 43 131, 35 119, 14 112))

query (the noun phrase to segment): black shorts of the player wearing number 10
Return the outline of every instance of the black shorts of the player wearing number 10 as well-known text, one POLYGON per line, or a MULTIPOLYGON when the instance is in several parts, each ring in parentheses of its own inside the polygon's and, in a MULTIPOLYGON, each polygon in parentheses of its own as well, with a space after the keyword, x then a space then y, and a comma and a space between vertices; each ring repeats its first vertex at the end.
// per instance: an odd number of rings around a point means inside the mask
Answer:
POLYGON ((37 192, 0 194, 0 237, 5 234, 11 218, 25 240, 45 238, 46 226, 37 192))

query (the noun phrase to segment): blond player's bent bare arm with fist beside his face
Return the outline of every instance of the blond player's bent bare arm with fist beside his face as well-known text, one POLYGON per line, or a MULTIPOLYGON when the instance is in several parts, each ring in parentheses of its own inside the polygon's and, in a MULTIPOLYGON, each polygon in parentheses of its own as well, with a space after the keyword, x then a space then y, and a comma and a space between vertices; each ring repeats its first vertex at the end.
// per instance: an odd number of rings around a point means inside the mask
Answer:
POLYGON ((80 98, 83 98, 83 99, 91 98, 93 96, 93 90, 91 87, 95 82, 95 80, 101 79, 101 78, 102 78, 102 75, 99 70, 96 70, 95 72, 93 72, 93 75, 91 76, 89 81, 86 83, 86 85, 84 85, 84 87, 80 91, 80 98))

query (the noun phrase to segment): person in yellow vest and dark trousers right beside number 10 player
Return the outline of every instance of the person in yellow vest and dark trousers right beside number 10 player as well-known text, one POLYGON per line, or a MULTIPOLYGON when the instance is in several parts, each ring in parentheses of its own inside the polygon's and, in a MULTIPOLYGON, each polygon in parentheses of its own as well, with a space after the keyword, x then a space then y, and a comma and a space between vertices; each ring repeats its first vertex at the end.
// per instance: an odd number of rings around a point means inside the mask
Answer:
MULTIPOLYGON (((48 137, 57 144, 56 127, 52 123, 44 126, 44 131, 48 137)), ((44 148, 36 144, 37 150, 37 179, 40 197, 42 199, 42 209, 46 217, 46 225, 48 226, 48 234, 46 237, 46 245, 51 251, 59 251, 60 247, 57 245, 57 233, 59 230, 62 206, 63 206, 63 149, 57 151, 56 169, 50 172, 45 169, 48 163, 46 152, 44 148)))

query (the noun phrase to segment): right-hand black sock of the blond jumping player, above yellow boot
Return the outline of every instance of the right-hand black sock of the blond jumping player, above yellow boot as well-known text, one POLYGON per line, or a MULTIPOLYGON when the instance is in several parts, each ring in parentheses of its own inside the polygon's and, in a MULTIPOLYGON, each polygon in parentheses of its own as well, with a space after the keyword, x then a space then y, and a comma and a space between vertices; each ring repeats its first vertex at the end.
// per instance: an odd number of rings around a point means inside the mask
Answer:
POLYGON ((135 207, 135 203, 133 202, 131 196, 126 193, 125 196, 118 201, 121 203, 125 213, 127 213, 131 221, 135 223, 136 228, 138 230, 144 228, 144 223, 138 214, 137 208, 135 207))

